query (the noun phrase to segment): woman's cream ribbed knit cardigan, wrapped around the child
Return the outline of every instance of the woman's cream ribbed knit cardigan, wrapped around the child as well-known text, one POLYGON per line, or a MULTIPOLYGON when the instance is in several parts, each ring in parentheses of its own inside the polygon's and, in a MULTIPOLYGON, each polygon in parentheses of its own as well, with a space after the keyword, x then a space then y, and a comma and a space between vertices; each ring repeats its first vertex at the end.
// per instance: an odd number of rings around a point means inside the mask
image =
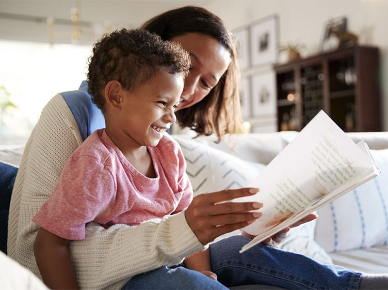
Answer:
MULTIPOLYGON (((26 144, 12 193, 8 255, 40 277, 33 255, 37 225, 31 219, 49 198, 69 156, 82 140, 61 94, 43 109, 26 144)), ((80 288, 120 289, 133 275, 177 264, 204 246, 184 212, 137 227, 89 224, 86 238, 70 243, 80 288)))

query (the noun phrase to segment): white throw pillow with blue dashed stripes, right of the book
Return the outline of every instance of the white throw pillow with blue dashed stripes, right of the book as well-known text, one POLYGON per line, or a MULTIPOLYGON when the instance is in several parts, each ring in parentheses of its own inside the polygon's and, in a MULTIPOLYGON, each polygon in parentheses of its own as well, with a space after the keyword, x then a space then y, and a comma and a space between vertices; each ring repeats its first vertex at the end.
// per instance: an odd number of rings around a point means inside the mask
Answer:
POLYGON ((371 153, 381 174, 318 210, 315 240, 327 252, 388 244, 388 149, 371 153))

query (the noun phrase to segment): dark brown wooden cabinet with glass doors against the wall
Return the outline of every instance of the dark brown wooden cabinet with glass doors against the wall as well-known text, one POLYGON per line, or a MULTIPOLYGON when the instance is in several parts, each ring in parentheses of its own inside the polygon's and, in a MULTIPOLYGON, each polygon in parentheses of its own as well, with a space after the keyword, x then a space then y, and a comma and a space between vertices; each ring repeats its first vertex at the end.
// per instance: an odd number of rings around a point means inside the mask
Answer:
POLYGON ((381 130, 376 47, 342 48, 274 68, 279 131, 301 130, 321 109, 345 132, 381 130))

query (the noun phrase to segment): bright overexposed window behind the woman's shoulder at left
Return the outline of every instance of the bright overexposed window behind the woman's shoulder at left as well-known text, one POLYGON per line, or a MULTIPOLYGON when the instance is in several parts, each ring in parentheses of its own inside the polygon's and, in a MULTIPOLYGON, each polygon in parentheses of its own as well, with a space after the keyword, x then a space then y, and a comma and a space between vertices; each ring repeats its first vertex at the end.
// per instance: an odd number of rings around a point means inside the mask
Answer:
POLYGON ((86 79, 91 46, 0 40, 0 144, 25 144, 58 92, 86 79))

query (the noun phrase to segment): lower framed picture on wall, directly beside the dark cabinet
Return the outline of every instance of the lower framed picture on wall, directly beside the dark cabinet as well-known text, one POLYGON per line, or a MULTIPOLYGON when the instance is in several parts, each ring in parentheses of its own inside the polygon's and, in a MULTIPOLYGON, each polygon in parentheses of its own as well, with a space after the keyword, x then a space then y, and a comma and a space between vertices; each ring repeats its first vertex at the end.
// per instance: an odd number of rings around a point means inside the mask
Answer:
POLYGON ((275 72, 268 71, 252 76, 252 110, 254 117, 273 117, 276 115, 275 72))

